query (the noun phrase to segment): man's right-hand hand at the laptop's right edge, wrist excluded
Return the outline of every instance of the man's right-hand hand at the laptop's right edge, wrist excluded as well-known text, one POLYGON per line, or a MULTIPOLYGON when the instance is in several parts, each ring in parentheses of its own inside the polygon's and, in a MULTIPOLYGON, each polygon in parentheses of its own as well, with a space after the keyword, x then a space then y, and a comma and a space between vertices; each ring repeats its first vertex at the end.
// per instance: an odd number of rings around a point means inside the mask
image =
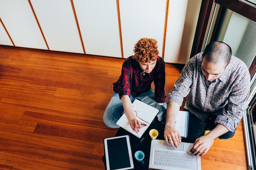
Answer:
POLYGON ((208 152, 208 150, 211 148, 213 140, 214 139, 211 139, 211 137, 208 137, 207 135, 197 138, 190 152, 195 156, 205 155, 208 152))

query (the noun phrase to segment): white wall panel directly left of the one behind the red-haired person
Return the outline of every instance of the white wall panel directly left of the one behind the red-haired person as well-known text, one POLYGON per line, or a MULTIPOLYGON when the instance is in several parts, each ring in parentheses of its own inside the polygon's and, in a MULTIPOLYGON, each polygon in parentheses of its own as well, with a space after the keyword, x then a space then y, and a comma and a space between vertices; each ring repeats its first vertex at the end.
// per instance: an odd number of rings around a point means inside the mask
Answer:
POLYGON ((86 54, 121 57, 116 0, 74 0, 86 54))

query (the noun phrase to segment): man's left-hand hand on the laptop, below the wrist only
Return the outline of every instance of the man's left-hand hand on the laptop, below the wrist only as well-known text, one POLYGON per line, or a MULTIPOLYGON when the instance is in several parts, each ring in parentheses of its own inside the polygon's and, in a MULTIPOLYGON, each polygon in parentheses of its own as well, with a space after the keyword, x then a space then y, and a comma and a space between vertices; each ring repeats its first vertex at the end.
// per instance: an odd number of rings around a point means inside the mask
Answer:
POLYGON ((171 144, 171 146, 175 146, 178 148, 181 143, 180 133, 176 131, 173 126, 170 126, 164 129, 164 139, 167 144, 171 144))

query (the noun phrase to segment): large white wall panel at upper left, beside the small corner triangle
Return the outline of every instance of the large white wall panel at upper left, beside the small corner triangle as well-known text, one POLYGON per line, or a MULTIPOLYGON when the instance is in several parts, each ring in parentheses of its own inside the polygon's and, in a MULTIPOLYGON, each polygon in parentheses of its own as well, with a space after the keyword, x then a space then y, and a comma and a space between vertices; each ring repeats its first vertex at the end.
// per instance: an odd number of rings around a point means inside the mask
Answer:
POLYGON ((27 0, 0 0, 0 17, 15 46, 47 49, 27 0))

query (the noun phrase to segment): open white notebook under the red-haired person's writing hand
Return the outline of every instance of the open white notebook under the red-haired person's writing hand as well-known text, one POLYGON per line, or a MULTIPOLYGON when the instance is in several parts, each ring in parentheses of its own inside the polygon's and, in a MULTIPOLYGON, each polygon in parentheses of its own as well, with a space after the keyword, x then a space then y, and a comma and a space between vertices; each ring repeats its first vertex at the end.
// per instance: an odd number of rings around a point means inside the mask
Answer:
MULTIPOLYGON (((133 106, 133 110, 137 112, 138 120, 141 121, 142 123, 147 124, 148 126, 154 120, 155 116, 159 112, 159 110, 156 109, 155 107, 147 105, 146 103, 141 102, 140 100, 137 100, 137 99, 135 99, 135 101, 132 103, 132 106, 133 106)), ((117 125, 139 138, 148 129, 148 126, 144 126, 141 129, 139 129, 139 133, 132 131, 130 122, 126 117, 126 114, 123 114, 121 116, 121 118, 117 121, 117 125)))

